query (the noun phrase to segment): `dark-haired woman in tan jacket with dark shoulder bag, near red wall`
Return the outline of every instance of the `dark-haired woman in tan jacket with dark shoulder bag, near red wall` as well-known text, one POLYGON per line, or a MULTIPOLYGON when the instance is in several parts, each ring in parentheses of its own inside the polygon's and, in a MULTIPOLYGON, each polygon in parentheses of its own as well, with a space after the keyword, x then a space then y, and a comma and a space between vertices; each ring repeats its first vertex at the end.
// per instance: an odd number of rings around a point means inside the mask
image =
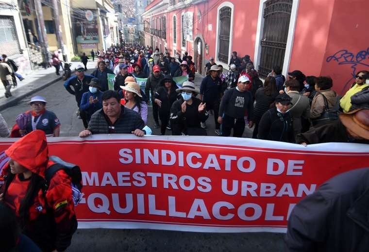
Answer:
MULTIPOLYGON (((320 126, 338 119, 338 113, 335 118, 328 118, 327 115, 323 115, 326 110, 333 111, 338 102, 337 94, 332 90, 332 86, 333 81, 330 77, 321 76, 315 83, 317 94, 315 94, 310 108, 310 119, 313 126, 320 126)), ((338 104, 337 109, 339 109, 338 104)), ((336 110, 336 112, 338 111, 336 110)))

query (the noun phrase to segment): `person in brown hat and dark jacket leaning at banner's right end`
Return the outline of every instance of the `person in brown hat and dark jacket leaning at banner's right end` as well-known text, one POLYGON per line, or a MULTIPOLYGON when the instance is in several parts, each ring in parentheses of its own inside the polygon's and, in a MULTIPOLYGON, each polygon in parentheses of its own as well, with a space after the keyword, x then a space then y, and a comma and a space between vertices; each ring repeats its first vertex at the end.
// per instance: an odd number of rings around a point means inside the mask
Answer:
POLYGON ((338 120, 296 136, 296 143, 302 145, 322 142, 369 143, 369 110, 358 109, 342 113, 338 120))

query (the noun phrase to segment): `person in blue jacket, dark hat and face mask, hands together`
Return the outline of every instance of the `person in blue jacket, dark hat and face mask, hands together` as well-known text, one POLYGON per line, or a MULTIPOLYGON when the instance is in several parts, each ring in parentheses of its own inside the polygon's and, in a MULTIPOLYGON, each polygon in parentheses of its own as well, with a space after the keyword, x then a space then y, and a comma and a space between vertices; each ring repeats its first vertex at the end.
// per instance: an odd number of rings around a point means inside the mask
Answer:
POLYGON ((87 125, 85 125, 85 128, 87 128, 88 122, 90 121, 93 113, 102 108, 102 100, 101 100, 102 92, 99 79, 97 78, 91 79, 91 82, 88 85, 89 85, 88 92, 85 92, 82 95, 80 106, 81 111, 86 113, 85 116, 87 119, 87 125))

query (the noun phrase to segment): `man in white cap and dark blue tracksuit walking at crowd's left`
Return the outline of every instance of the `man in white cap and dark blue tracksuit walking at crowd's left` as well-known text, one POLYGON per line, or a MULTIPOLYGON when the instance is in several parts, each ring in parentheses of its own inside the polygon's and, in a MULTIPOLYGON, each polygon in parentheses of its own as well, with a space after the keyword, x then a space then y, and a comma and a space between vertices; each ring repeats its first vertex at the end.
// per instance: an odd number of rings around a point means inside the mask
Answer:
MULTIPOLYGON (((76 75, 67 79, 64 83, 64 87, 67 89, 69 94, 76 96, 76 102, 78 109, 80 108, 82 94, 88 91, 88 83, 94 77, 92 75, 84 74, 84 65, 78 64, 76 67, 76 75)), ((77 110, 77 114, 81 117, 85 126, 87 126, 87 120, 84 112, 77 110)))

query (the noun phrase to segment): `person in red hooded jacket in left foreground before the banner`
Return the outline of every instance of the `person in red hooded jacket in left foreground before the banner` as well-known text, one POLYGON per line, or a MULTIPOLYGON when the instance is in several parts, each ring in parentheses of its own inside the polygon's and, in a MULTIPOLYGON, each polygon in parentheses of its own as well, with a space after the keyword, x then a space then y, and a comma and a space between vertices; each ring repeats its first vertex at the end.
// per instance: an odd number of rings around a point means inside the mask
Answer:
POLYGON ((42 251, 65 251, 77 229, 71 179, 59 170, 45 191, 45 171, 54 163, 44 131, 32 131, 5 154, 10 159, 0 175, 0 201, 15 211, 23 234, 42 251))

